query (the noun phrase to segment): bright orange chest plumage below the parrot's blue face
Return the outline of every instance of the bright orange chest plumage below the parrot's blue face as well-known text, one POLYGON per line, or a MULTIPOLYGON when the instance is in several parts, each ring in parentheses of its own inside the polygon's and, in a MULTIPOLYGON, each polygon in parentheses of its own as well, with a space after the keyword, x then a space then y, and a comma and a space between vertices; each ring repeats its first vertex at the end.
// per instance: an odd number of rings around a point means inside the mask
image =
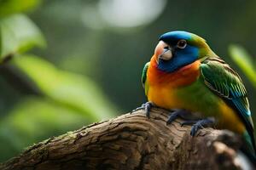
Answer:
POLYGON ((155 59, 148 67, 148 100, 166 109, 183 108, 183 101, 176 96, 178 88, 188 86, 200 76, 199 60, 173 73, 166 73, 157 68, 155 59))

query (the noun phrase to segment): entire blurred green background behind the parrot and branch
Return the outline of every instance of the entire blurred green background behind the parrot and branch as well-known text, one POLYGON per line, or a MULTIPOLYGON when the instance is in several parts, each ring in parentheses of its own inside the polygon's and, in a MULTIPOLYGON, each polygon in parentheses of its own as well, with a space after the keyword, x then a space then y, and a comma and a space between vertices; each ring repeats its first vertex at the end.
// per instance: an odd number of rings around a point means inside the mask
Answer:
POLYGON ((0 161, 144 103, 143 65, 166 31, 207 39, 255 122, 255 27, 256 1, 0 1, 0 161))

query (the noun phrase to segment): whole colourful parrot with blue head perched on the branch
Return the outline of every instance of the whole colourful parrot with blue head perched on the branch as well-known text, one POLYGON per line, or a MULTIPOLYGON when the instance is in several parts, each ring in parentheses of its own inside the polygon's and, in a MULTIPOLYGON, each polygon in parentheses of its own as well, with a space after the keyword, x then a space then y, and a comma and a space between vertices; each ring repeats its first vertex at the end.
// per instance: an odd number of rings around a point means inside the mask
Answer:
POLYGON ((245 152, 256 157, 246 88, 238 73, 204 38, 188 31, 161 35, 154 55, 143 68, 142 83, 148 102, 134 111, 143 109, 148 118, 153 106, 172 111, 167 125, 194 114, 199 119, 181 123, 192 125, 191 136, 212 125, 228 129, 241 135, 245 152))

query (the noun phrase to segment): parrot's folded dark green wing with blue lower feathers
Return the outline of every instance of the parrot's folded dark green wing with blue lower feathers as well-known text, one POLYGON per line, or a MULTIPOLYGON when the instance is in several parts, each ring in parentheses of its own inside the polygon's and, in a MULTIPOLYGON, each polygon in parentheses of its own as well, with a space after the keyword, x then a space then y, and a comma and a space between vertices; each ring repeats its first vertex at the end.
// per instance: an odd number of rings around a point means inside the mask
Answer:
MULTIPOLYGON (((253 135, 253 120, 247 100, 247 91, 241 77, 224 60, 214 57, 201 62, 201 76, 208 88, 236 109, 236 113, 253 135)), ((253 136, 251 136, 253 138, 253 136)))

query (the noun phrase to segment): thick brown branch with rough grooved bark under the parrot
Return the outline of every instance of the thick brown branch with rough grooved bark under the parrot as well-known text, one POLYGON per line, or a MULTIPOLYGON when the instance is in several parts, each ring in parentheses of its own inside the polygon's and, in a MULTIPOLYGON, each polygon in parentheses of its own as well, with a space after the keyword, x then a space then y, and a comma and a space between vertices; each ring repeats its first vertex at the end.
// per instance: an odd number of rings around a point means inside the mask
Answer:
POLYGON ((166 126, 166 119, 166 111, 154 108, 150 119, 137 111, 94 123, 35 144, 0 169, 241 168, 233 133, 204 128, 191 137, 182 120, 166 126))

